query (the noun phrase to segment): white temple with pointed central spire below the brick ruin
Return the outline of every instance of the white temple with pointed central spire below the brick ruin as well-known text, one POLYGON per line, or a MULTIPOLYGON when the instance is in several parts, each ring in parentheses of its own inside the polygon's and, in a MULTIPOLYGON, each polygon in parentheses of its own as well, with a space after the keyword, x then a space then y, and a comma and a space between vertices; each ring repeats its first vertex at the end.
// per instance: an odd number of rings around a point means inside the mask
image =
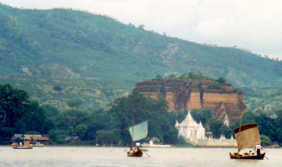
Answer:
POLYGON ((202 122, 200 121, 200 123, 197 124, 197 122, 193 120, 190 111, 180 124, 176 121, 175 127, 178 128, 178 135, 183 136, 187 140, 205 139, 206 130, 202 122))

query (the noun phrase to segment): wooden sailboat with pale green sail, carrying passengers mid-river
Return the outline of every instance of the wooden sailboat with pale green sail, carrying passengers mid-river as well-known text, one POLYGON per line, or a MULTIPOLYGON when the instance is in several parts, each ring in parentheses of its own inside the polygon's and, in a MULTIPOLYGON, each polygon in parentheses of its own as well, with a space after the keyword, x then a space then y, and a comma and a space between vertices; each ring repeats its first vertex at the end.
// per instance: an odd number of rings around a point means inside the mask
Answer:
MULTIPOLYGON (((148 120, 150 121, 150 120, 148 120)), ((148 134, 148 121, 141 122, 139 124, 134 125, 134 117, 132 119, 132 126, 128 128, 131 138, 132 138, 132 143, 131 146, 133 147, 133 142, 141 140, 145 137, 147 137, 148 134)), ((129 151, 127 152, 127 156, 143 156, 143 152, 141 149, 137 151, 129 151)))

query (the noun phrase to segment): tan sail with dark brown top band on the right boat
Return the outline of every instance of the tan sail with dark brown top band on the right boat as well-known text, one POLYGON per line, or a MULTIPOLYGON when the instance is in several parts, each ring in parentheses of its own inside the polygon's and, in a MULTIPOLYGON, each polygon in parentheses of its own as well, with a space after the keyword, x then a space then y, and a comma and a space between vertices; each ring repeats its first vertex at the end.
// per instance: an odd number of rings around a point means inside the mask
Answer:
POLYGON ((258 124, 246 124, 234 129, 238 152, 260 143, 258 124))

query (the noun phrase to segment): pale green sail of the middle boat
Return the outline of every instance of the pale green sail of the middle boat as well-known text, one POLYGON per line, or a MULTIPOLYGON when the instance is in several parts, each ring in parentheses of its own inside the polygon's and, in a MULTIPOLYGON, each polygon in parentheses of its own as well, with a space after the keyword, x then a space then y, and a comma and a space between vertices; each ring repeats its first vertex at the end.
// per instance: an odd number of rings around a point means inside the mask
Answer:
MULTIPOLYGON (((129 132, 132 137, 132 126, 129 127, 129 132)), ((141 140, 148 134, 148 121, 141 122, 133 126, 133 141, 141 140)))

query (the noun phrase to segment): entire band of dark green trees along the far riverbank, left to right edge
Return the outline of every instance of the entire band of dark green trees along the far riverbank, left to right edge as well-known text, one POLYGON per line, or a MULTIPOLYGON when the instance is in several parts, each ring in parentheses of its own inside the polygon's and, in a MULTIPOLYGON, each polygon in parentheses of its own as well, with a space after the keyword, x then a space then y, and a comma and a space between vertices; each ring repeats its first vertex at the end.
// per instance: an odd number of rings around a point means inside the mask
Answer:
MULTIPOLYGON (((75 102, 77 103, 77 102, 75 102)), ((131 143, 128 130, 124 130, 142 121, 148 122, 148 136, 144 141, 156 137, 160 143, 177 144, 184 140, 178 137, 178 130, 174 127, 176 120, 182 122, 187 111, 167 112, 168 103, 164 99, 147 98, 138 92, 132 92, 127 97, 116 98, 107 108, 87 110, 79 105, 69 103, 70 108, 59 111, 50 105, 39 105, 37 101, 29 99, 24 90, 13 88, 10 84, 0 84, 0 142, 11 142, 14 134, 38 133, 49 134, 51 143, 64 143, 67 136, 80 136, 85 144, 120 144, 131 143)), ((191 111, 194 120, 202 121, 206 131, 211 131, 214 138, 224 134, 227 138, 233 135, 233 129, 240 125, 235 121, 230 127, 222 120, 212 116, 210 109, 194 109, 191 111)), ((271 141, 282 143, 282 110, 275 118, 265 114, 246 112, 242 124, 258 123, 262 143, 271 141)), ((234 136, 233 136, 234 137, 234 136)))

